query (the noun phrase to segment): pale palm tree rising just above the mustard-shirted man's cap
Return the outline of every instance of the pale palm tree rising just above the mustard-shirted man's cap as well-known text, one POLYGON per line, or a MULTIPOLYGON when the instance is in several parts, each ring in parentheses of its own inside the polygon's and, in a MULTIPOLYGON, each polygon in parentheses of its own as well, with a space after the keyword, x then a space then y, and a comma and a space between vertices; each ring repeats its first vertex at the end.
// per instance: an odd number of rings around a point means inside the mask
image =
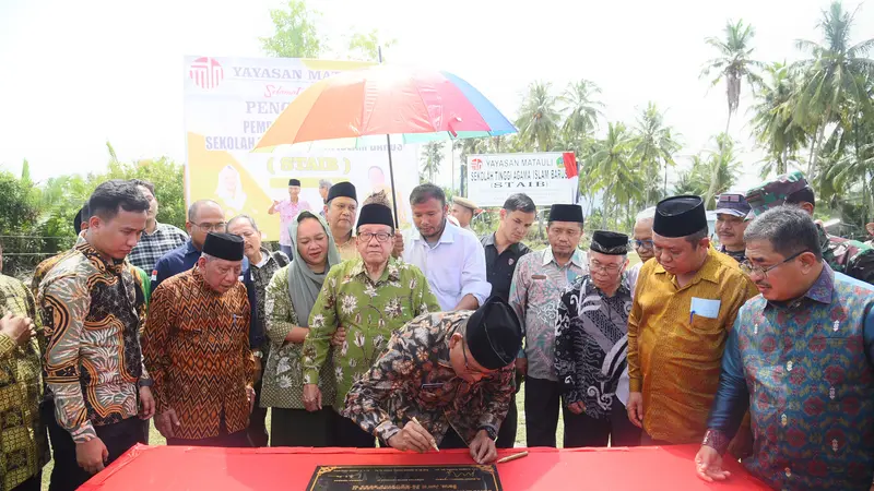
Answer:
POLYGON ((645 205, 658 201, 668 194, 668 167, 674 165, 674 154, 681 145, 676 141, 673 128, 664 123, 664 115, 656 103, 650 101, 637 117, 634 135, 634 159, 647 175, 647 193, 645 205), (664 168, 664 187, 659 192, 659 175, 664 168))

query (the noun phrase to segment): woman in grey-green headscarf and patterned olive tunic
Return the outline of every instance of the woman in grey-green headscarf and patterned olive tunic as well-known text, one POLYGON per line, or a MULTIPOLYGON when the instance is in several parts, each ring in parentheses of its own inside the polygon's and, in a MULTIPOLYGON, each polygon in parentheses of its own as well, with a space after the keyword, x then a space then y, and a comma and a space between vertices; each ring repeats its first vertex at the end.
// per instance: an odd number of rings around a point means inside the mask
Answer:
MULTIPOLYGON (((261 406, 272 407, 271 446, 332 446, 335 411, 304 408, 300 356, 309 312, 331 266, 341 262, 324 218, 300 212, 288 227, 294 261, 267 287, 264 315, 271 347, 264 368, 261 406)), ((330 358, 330 357, 329 357, 330 358)), ((333 364, 319 374, 324 400, 334 400, 333 364), (330 396, 328 396, 330 394, 330 396)))

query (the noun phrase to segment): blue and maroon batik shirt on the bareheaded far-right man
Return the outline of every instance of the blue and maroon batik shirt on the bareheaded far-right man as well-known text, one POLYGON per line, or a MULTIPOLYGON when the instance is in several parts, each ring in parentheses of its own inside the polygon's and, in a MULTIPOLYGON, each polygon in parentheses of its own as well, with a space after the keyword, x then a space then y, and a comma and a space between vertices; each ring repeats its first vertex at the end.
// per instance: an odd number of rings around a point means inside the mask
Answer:
POLYGON ((744 466, 775 489, 867 490, 874 474, 874 287, 825 266, 792 302, 741 308, 705 444, 749 408, 744 466))

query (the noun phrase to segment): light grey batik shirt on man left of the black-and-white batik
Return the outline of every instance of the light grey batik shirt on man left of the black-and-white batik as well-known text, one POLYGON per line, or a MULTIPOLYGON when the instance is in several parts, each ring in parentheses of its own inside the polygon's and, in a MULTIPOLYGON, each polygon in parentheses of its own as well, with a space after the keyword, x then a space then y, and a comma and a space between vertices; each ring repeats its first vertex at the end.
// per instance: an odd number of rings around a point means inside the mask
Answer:
POLYGON ((562 292, 588 273, 586 253, 574 251, 570 261, 559 266, 552 248, 523 255, 512 277, 510 306, 522 323, 528 376, 539 380, 558 379, 555 375, 555 324, 562 292))

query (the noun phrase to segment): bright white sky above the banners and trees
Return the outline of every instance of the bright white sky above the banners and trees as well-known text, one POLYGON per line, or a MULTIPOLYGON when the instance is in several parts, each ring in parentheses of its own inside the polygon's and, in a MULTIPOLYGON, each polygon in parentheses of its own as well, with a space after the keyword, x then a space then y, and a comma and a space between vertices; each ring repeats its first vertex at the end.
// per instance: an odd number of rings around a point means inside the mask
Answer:
MULTIPOLYGON (((389 62, 447 70, 465 79, 511 120, 532 81, 562 91, 588 79, 604 116, 634 124, 652 100, 682 134, 681 157, 724 130, 724 85, 699 79, 714 56, 705 44, 729 19, 756 28, 754 58, 803 58, 794 40, 819 40, 825 0, 310 0, 333 39, 377 28, 397 44, 389 62), (533 7, 533 8, 532 8, 533 7)), ((274 0, 0 0, 0 169, 24 158, 42 180, 101 171, 111 142, 122 161, 163 155, 185 160, 182 57, 263 56, 274 0), (87 7, 85 7, 87 5, 87 7)), ((848 9, 857 7, 847 1, 848 9)), ((854 40, 874 33, 874 5, 857 13, 854 40)), ((748 96, 748 88, 744 87, 748 96)), ((742 100, 732 123, 744 175, 756 183, 742 100)), ((447 166, 449 165, 447 157, 447 166)), ((441 173, 449 181, 449 171, 441 173)))

